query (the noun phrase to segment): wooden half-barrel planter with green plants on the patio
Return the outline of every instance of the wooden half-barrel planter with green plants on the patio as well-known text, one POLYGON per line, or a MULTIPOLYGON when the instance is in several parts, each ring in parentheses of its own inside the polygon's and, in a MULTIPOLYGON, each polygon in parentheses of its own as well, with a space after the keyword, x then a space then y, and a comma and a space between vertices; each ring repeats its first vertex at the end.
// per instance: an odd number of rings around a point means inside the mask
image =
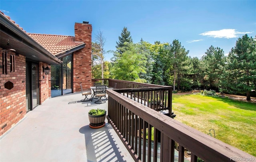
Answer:
MULTIPOLYGON (((106 119, 106 110, 101 110, 101 111, 105 111, 105 113, 101 114, 101 115, 95 115, 95 114, 91 115, 90 111, 88 113, 88 117, 89 117, 89 121, 90 121, 89 126, 94 129, 104 127, 105 119, 106 119)), ((95 109, 93 111, 95 111, 95 109)))

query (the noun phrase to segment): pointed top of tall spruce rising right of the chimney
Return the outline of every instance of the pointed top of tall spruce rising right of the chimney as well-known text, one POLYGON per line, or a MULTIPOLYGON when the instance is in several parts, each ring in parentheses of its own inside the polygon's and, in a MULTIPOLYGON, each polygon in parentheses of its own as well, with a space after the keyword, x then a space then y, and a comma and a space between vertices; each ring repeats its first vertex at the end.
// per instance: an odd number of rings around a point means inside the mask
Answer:
MULTIPOLYGON (((127 30, 127 27, 124 27, 121 33, 121 37, 118 36, 119 41, 116 42, 116 51, 120 54, 124 53, 126 48, 128 47, 127 43, 132 43, 132 37, 130 36, 130 31, 127 30), (127 43, 125 43, 127 42, 127 43)), ((128 50, 128 49, 127 49, 128 50)))

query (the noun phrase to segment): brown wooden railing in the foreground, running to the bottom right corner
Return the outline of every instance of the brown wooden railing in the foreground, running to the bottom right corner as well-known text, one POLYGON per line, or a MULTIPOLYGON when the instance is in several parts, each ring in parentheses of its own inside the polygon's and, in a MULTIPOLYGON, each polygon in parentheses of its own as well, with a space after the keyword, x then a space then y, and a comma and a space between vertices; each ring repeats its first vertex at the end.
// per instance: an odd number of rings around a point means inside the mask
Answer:
POLYGON ((127 92, 107 90, 107 119, 136 161, 183 162, 186 159, 186 150, 191 152, 191 162, 196 162, 198 157, 206 162, 256 160, 256 157, 238 148, 188 127, 120 93, 127 92), (175 148, 178 149, 178 155, 175 148))

